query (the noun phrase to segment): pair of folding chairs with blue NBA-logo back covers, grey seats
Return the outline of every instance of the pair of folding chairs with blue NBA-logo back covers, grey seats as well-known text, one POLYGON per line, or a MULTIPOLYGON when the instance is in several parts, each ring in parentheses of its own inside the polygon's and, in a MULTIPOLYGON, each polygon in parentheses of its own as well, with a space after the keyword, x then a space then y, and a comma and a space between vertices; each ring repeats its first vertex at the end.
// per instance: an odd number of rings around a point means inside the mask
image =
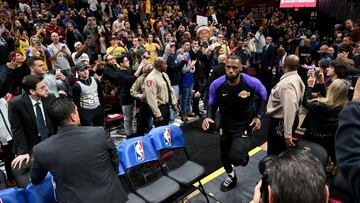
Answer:
POLYGON ((118 146, 120 158, 119 175, 124 175, 130 186, 128 202, 172 202, 178 201, 194 189, 198 189, 209 202, 206 191, 200 180, 205 174, 205 168, 190 160, 185 149, 185 140, 181 128, 175 125, 152 129, 148 135, 135 137, 122 142, 118 146), (183 151, 186 161, 172 170, 161 155, 179 149, 183 151), (147 178, 144 169, 158 169, 158 176, 147 178), (132 173, 143 176, 143 184, 135 184, 132 173), (199 187, 195 188, 194 183, 199 187))

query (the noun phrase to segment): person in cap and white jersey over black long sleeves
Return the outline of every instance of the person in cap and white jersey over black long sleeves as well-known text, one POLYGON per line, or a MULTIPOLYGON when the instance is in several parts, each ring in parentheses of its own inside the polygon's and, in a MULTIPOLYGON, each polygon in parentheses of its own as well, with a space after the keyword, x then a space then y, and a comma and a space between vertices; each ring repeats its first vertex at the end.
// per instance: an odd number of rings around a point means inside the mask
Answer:
POLYGON ((101 83, 89 76, 89 67, 83 62, 76 64, 79 81, 73 87, 74 103, 79 109, 82 126, 103 126, 103 91, 101 83))

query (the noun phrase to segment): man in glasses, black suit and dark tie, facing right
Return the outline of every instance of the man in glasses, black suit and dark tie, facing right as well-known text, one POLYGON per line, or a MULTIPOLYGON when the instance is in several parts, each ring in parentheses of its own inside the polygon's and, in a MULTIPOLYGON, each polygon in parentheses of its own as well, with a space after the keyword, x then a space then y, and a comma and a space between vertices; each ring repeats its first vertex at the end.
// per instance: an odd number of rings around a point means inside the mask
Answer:
POLYGON ((55 96, 48 94, 43 76, 25 76, 22 87, 24 92, 9 102, 13 151, 17 155, 12 162, 13 168, 21 168, 24 162, 28 163, 33 146, 56 131, 47 115, 49 102, 55 96))

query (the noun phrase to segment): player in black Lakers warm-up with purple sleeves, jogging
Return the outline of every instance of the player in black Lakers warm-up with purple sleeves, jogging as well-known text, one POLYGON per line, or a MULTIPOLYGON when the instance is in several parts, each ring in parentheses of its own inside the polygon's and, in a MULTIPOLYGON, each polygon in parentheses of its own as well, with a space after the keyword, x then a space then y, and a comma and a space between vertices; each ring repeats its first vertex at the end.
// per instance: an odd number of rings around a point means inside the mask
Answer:
MULTIPOLYGON (((202 128, 208 130, 214 123, 217 109, 220 109, 220 156, 228 177, 221 184, 220 190, 225 192, 236 185, 236 174, 230 160, 230 149, 234 138, 242 137, 242 142, 250 139, 248 136, 261 127, 260 117, 265 111, 267 93, 260 81, 247 74, 241 73, 242 65, 238 56, 231 56, 226 61, 225 76, 216 79, 210 86, 209 106, 207 118, 202 123, 202 128), (254 108, 254 96, 259 98, 259 103, 254 108)), ((233 146, 234 147, 234 146, 233 146)), ((241 147, 241 146, 240 146, 241 147)), ((247 164, 248 151, 245 147, 240 149, 242 157, 247 164)), ((241 156, 241 155, 239 155, 241 156)))

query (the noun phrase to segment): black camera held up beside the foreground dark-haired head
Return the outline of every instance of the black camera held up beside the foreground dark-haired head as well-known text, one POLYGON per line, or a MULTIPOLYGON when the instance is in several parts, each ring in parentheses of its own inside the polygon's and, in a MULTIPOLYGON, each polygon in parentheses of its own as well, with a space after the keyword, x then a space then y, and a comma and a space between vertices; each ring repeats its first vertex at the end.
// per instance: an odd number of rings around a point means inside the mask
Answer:
POLYGON ((274 156, 266 156, 262 160, 260 160, 258 168, 259 172, 262 175, 261 178, 261 187, 260 187, 260 193, 261 193, 261 199, 264 203, 267 203, 269 201, 269 172, 270 167, 273 162, 274 156))

